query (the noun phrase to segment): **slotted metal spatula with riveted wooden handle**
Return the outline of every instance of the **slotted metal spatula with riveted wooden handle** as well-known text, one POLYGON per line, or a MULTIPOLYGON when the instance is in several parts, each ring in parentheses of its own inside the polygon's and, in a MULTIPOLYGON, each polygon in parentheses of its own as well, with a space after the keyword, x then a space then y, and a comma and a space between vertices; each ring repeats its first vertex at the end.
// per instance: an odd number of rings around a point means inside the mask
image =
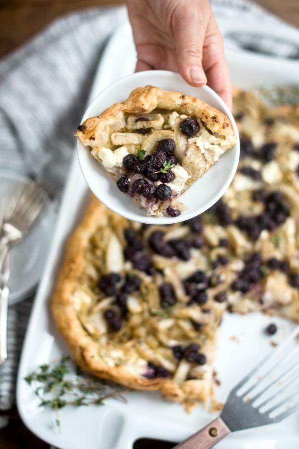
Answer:
POLYGON ((210 449, 231 432, 279 423, 299 409, 299 326, 230 392, 221 415, 173 449, 210 449))

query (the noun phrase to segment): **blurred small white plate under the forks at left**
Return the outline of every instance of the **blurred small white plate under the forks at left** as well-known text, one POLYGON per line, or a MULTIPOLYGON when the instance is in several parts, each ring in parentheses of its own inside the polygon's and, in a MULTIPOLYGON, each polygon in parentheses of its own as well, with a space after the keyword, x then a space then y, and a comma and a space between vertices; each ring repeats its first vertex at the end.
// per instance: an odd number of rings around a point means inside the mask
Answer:
MULTIPOLYGON (((25 176, 18 173, 0 172, 0 198, 6 188, 10 189, 25 179, 25 176)), ((52 237, 53 213, 53 207, 48 203, 24 240, 10 250, 9 305, 15 304, 33 293, 40 280, 52 237)))

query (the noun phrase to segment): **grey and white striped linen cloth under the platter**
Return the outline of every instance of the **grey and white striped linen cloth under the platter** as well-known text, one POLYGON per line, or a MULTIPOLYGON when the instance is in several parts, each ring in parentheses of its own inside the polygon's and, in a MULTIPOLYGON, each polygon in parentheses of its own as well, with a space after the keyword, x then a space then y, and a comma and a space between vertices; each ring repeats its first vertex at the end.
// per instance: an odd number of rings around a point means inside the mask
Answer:
MULTIPOLYGON (((251 1, 210 1, 219 19, 281 23, 251 1)), ((73 132, 101 53, 126 20, 125 6, 72 13, 0 60, 0 171, 37 175, 52 191, 61 192, 75 148, 73 132)), ((14 402, 32 301, 29 297, 9 307, 8 359, 0 367, 0 410, 8 410, 14 402)))

